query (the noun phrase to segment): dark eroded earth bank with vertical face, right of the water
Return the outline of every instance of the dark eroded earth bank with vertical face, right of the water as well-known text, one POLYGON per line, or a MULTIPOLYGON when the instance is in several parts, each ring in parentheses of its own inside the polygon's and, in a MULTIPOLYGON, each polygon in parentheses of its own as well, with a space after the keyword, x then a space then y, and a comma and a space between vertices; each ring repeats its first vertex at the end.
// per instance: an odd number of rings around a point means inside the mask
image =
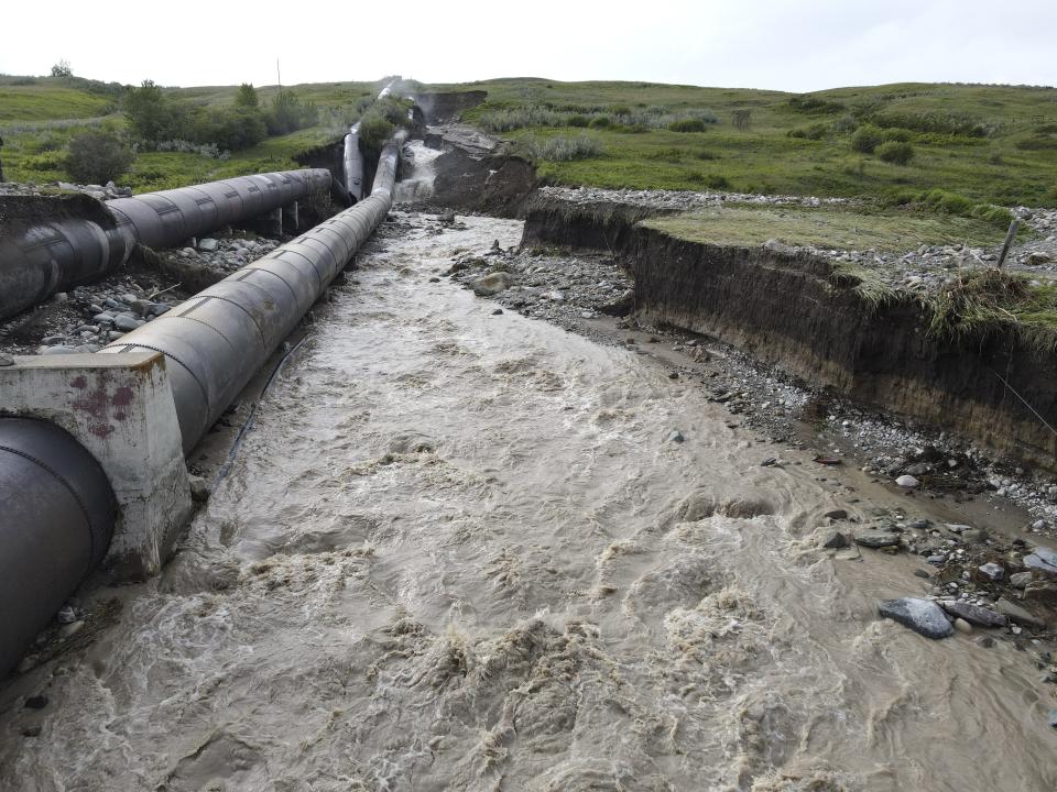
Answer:
POLYGON ((1046 425, 1057 425, 1057 356, 1015 326, 940 338, 927 331, 930 309, 917 298, 872 305, 828 260, 676 239, 639 224, 650 215, 535 200, 524 241, 618 254, 641 320, 713 336, 862 405, 1057 468, 1046 425))

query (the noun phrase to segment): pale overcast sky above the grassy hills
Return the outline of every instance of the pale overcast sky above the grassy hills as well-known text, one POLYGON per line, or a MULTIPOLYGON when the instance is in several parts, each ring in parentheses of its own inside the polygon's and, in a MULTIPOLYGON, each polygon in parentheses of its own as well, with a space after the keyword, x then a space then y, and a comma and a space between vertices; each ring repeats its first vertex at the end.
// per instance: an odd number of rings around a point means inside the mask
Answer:
POLYGON ((273 85, 276 58, 284 85, 389 74, 793 91, 1057 85, 1055 52, 1057 0, 10 0, 0 28, 0 73, 47 74, 65 58, 84 77, 170 86, 273 85))

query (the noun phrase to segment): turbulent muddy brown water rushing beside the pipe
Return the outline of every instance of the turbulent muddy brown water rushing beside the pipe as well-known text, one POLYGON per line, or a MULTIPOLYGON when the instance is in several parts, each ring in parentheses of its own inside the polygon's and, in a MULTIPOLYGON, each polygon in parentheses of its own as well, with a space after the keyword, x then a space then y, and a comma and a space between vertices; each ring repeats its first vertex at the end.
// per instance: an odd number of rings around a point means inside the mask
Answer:
POLYGON ((819 550, 839 488, 698 387, 431 283, 519 240, 465 220, 363 256, 0 787, 1057 788, 1026 653, 880 619, 924 582, 819 550))

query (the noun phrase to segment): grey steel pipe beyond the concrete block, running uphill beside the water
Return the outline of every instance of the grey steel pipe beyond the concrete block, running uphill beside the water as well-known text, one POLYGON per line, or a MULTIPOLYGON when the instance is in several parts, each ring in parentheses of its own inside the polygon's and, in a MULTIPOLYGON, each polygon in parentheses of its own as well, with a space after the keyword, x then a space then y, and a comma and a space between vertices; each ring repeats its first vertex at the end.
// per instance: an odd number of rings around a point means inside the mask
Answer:
POLYGON ((185 453, 389 213, 401 142, 385 145, 369 197, 100 350, 168 359, 185 453))

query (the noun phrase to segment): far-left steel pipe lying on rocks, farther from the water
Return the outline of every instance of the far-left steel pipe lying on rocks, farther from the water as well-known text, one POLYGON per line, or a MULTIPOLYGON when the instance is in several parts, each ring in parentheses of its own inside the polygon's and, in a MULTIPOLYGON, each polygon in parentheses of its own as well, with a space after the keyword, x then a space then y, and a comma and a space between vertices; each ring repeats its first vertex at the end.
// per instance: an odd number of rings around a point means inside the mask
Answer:
POLYGON ((103 277, 137 244, 170 248, 326 191, 330 180, 324 168, 240 176, 118 198, 103 217, 30 223, 0 240, 0 319, 103 277))

